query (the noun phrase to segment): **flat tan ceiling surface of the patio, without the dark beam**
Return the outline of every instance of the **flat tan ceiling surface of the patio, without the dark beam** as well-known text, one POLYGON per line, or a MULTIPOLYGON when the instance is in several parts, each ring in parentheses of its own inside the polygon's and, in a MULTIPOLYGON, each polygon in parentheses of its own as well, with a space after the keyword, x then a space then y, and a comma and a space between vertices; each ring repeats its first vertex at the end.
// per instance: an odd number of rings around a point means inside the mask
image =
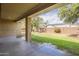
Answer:
POLYGON ((3 3, 1 4, 1 18, 15 20, 36 5, 38 5, 38 3, 3 3))

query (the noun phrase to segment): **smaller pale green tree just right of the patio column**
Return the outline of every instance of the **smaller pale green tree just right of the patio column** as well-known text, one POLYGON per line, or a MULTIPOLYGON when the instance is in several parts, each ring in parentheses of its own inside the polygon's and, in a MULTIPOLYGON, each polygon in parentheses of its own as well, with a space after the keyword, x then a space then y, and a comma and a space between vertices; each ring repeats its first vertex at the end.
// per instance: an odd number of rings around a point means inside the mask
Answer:
POLYGON ((43 24, 43 18, 41 17, 32 18, 32 30, 36 30, 38 32, 42 24, 43 24))

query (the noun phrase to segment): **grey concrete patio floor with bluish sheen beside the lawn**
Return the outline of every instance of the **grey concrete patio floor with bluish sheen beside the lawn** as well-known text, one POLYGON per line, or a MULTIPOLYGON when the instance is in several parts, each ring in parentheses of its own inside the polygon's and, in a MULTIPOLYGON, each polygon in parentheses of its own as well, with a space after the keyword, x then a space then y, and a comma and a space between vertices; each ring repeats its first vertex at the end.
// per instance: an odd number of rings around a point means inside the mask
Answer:
POLYGON ((51 44, 28 43, 24 38, 0 37, 0 56, 69 56, 51 44))

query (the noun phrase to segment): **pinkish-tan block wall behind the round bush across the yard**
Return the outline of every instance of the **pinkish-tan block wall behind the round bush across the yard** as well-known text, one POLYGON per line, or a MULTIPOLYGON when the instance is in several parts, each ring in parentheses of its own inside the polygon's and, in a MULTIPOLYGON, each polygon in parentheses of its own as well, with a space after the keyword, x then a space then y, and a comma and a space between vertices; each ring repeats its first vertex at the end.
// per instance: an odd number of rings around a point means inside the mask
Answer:
MULTIPOLYGON (((46 30, 49 33, 55 33, 54 29, 55 28, 47 28, 46 30)), ((76 33, 79 34, 78 27, 71 27, 71 28, 70 27, 60 27, 60 29, 61 29, 62 34, 76 34, 76 33)))

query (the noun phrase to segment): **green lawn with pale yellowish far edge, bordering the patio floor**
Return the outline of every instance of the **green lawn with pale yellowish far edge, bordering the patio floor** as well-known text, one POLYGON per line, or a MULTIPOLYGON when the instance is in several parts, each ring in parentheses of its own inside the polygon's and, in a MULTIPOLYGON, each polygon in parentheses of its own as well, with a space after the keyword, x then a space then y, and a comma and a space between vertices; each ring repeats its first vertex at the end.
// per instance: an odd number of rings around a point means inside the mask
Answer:
POLYGON ((60 49, 65 49, 73 55, 79 55, 79 40, 70 37, 32 33, 32 40, 40 43, 52 43, 60 49))

